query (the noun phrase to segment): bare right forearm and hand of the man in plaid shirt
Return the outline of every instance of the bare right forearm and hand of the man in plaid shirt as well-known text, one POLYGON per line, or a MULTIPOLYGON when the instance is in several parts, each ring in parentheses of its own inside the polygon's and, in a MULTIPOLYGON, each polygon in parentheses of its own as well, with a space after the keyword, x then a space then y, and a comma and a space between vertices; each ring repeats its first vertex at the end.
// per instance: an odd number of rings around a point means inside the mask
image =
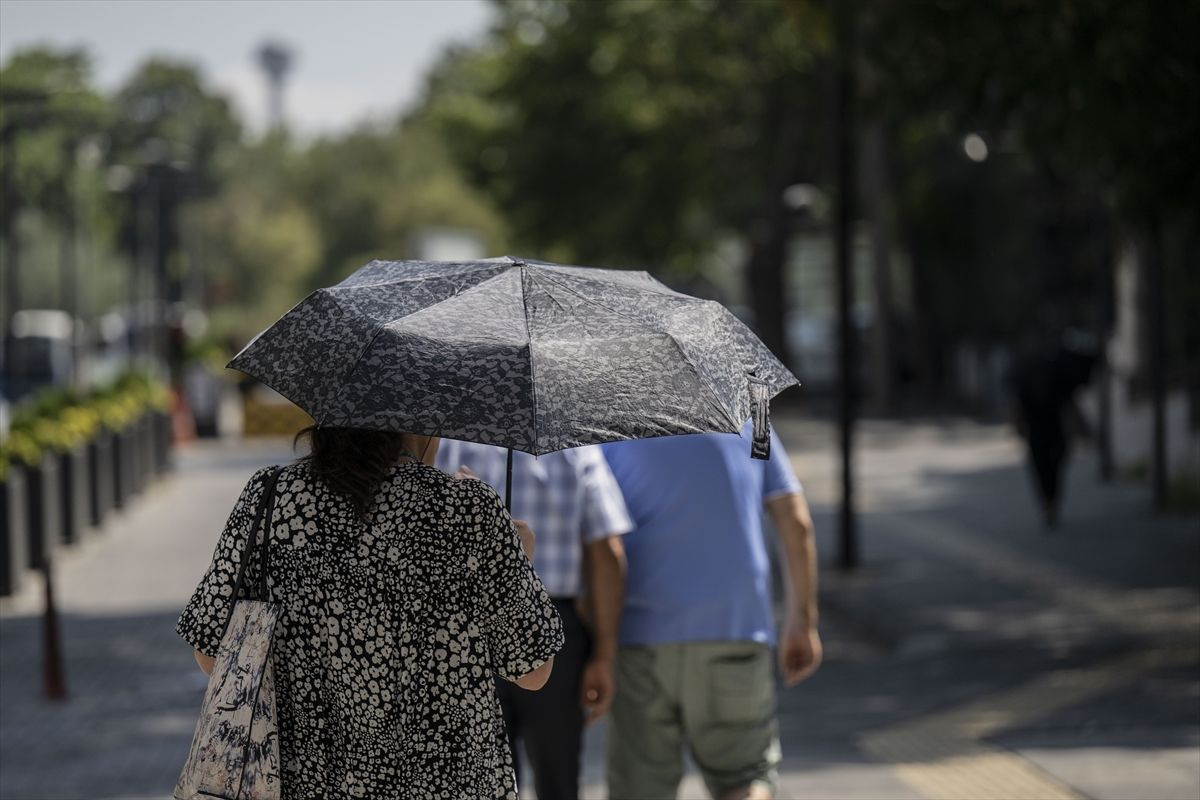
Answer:
POLYGON ((580 703, 592 723, 602 717, 613 698, 617 627, 625 589, 625 546, 620 536, 587 543, 588 600, 592 610, 592 655, 580 681, 580 703))

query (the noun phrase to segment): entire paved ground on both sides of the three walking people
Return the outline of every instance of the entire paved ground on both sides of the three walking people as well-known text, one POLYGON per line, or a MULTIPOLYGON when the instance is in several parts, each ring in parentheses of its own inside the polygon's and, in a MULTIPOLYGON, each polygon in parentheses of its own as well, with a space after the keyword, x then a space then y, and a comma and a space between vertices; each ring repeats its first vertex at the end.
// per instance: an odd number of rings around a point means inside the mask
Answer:
MULTIPOLYGON (((780 698, 781 796, 1200 796, 1200 521, 1151 517, 1142 488, 1098 486, 1084 457, 1048 535, 1006 432, 866 423, 865 566, 844 576, 830 428, 776 422, 816 510, 827 646, 780 698)), ((64 554, 67 702, 38 697, 37 587, 0 604, 0 799, 169 796, 204 685, 175 616, 246 477, 286 457, 186 450, 64 554)), ((695 776, 680 796, 704 796, 695 776)))

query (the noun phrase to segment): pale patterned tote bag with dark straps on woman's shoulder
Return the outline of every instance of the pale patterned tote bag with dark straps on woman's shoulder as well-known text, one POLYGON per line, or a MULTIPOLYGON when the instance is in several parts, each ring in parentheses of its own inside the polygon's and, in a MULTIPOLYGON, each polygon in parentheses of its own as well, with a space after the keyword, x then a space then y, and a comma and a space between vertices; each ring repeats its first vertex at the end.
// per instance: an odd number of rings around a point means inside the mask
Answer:
POLYGON ((271 638, 280 607, 270 601, 266 587, 270 509, 278 476, 276 467, 266 479, 258 504, 196 736, 175 786, 175 800, 280 798, 280 736, 271 669, 271 638), (258 600, 236 600, 246 577, 246 564, 256 549, 256 533, 262 540, 257 547, 258 600))

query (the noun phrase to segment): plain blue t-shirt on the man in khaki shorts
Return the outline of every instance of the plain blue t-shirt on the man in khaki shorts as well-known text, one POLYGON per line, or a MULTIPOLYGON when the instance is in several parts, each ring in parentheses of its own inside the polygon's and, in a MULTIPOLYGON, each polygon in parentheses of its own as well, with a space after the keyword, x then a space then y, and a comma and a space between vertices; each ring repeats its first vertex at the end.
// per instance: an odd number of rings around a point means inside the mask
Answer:
POLYGON ((750 458, 750 427, 604 445, 634 530, 622 644, 774 644, 763 503, 800 492, 784 445, 750 458))

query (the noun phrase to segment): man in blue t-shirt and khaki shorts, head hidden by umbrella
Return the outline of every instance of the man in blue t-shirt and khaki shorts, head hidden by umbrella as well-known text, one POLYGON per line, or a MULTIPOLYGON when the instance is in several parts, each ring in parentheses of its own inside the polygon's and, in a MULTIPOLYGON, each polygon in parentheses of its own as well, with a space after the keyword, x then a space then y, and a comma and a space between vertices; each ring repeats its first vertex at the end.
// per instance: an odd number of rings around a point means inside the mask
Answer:
POLYGON ((785 686, 821 663, 816 547, 779 437, 768 461, 748 450, 733 434, 604 445, 635 525, 624 537, 611 798, 674 798, 685 745, 714 798, 774 795, 776 636, 763 507, 781 543, 785 686))

